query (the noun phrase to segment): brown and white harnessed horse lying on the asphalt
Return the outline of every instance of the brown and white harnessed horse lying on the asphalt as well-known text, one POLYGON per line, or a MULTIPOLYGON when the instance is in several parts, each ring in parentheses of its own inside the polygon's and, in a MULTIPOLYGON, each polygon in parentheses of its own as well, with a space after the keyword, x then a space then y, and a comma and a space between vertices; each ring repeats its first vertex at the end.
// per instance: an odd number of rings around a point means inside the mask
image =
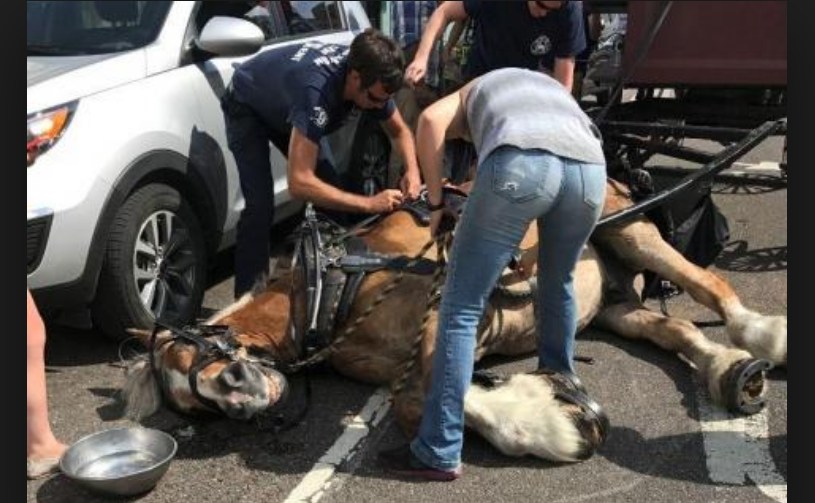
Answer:
MULTIPOLYGON (((607 189, 604 215, 633 204, 624 185, 609 180, 607 189)), ((431 236, 410 213, 396 211, 362 239, 380 254, 415 257, 431 236)), ((535 266, 536 242, 532 225, 520 247, 520 261, 529 273, 535 266)), ((433 249, 426 256, 437 258, 433 249)), ((198 335, 133 331, 149 348, 149 359, 134 362, 128 372, 123 394, 129 415, 140 418, 155 412, 162 395, 185 413, 216 411, 233 418, 250 418, 282 402, 284 374, 303 364, 302 342, 292 336, 290 320, 290 294, 297 292, 292 290, 294 277, 291 270, 283 271, 263 291, 210 318, 198 335), (217 326, 228 327, 229 337, 217 326)), ((501 284, 512 291, 526 281, 507 270, 501 284)), ((366 274, 346 321, 335 327, 334 341, 318 353, 350 378, 399 382, 393 388, 393 407, 408 436, 416 431, 423 393, 432 378, 436 310, 427 309, 427 298, 433 286, 429 275, 393 270, 366 274), (397 275, 401 281, 394 282, 397 275), (374 303, 377 307, 369 308, 374 303)), ((765 316, 742 305, 724 278, 687 261, 644 216, 598 227, 575 269, 575 294, 579 330, 592 324, 678 353, 700 373, 712 399, 731 410, 759 410, 765 371, 786 365, 786 316, 765 316), (709 340, 688 320, 648 310, 635 281, 643 270, 672 281, 717 313, 734 347, 709 340)), ((296 313, 298 302, 294 304, 296 313)), ((493 295, 479 330, 476 359, 534 353, 534 320, 531 296, 493 295)), ((602 414, 570 399, 556 376, 518 374, 496 386, 474 383, 465 398, 467 426, 508 455, 554 461, 587 458, 604 440, 606 432, 598 420, 602 414)))

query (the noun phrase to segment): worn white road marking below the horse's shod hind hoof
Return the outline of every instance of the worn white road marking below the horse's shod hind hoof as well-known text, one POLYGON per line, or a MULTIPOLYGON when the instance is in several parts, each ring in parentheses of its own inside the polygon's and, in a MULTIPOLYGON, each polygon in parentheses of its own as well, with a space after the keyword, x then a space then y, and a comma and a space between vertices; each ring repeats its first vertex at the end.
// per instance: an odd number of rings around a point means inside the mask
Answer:
POLYGON ((712 404, 701 391, 696 393, 710 480, 733 485, 752 481, 767 497, 786 503, 787 481, 770 456, 767 409, 735 417, 712 404))

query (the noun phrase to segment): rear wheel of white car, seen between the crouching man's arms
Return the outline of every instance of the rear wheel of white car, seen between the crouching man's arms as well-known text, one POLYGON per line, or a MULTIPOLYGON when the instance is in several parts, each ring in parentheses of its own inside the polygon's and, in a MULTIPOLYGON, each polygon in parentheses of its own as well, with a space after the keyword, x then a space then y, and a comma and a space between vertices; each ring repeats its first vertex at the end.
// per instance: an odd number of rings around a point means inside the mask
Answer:
POLYGON ((349 190, 371 196, 396 186, 389 181, 390 154, 391 142, 387 133, 376 120, 363 116, 351 148, 349 190))

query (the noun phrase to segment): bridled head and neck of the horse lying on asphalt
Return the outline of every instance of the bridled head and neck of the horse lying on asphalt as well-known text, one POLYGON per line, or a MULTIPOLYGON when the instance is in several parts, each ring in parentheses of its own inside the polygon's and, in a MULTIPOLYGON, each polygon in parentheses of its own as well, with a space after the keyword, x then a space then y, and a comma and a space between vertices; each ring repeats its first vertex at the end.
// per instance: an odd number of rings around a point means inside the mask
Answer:
POLYGON ((285 341, 288 305, 283 292, 269 291, 198 327, 131 330, 148 355, 128 369, 127 415, 148 416, 163 399, 184 413, 249 419, 282 403, 288 383, 281 367, 294 359, 285 341))

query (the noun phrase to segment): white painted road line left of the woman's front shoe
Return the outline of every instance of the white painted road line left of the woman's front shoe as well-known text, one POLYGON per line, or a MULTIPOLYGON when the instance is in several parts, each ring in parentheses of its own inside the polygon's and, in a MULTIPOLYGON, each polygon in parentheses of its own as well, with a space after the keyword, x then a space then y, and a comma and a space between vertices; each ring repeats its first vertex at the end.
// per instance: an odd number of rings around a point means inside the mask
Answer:
POLYGON ((334 472, 343 461, 356 454, 356 448, 371 428, 377 426, 390 410, 390 391, 379 388, 371 395, 360 413, 345 427, 340 438, 311 467, 311 470, 289 493, 284 503, 316 503, 333 481, 334 472))

